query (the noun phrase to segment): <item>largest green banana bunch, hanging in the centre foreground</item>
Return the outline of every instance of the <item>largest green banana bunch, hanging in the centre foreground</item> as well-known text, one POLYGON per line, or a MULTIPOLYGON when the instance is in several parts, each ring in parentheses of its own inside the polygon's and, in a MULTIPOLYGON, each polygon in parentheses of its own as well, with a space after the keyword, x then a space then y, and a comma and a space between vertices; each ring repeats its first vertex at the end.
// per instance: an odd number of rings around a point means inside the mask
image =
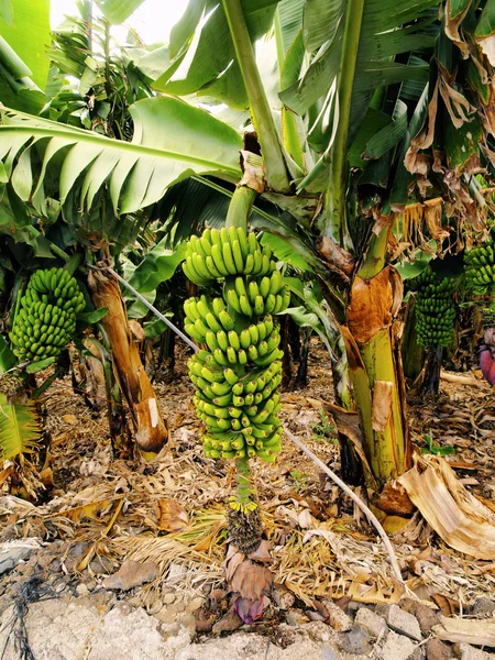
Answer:
POLYGON ((270 248, 239 228, 207 229, 186 254, 184 272, 196 284, 224 279, 222 297, 201 295, 184 305, 186 332, 208 346, 188 362, 206 455, 274 462, 282 449, 276 389, 283 351, 272 315, 289 305, 288 287, 270 248))

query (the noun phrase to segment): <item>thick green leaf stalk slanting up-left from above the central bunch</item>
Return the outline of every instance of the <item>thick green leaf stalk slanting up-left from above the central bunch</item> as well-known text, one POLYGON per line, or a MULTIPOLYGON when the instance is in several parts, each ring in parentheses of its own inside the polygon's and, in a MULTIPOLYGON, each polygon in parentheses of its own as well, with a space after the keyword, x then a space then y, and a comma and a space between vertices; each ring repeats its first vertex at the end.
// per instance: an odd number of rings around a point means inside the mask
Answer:
POLYGON ((268 186, 277 193, 290 189, 284 155, 272 110, 254 57, 241 0, 222 0, 233 47, 250 100, 251 117, 261 145, 268 186))

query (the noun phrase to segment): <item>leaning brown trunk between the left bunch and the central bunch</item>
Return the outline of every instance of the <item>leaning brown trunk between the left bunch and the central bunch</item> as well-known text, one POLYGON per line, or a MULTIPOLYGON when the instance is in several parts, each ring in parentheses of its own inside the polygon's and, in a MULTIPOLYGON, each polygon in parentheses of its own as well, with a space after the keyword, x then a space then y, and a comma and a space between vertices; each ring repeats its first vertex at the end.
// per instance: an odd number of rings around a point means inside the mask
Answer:
POLYGON ((145 453, 157 453, 167 441, 167 424, 133 341, 119 285, 94 271, 88 275, 88 285, 95 307, 108 309, 102 323, 112 349, 116 375, 131 410, 138 446, 145 453))

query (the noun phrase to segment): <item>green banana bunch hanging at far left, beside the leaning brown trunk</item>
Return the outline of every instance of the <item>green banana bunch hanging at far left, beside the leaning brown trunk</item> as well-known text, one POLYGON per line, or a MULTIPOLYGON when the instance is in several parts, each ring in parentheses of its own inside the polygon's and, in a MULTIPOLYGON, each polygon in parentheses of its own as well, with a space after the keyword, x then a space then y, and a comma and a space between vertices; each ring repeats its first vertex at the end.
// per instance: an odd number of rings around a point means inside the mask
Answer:
POLYGON ((76 328, 86 302, 76 279, 63 268, 36 271, 21 299, 9 337, 20 360, 57 356, 76 328))

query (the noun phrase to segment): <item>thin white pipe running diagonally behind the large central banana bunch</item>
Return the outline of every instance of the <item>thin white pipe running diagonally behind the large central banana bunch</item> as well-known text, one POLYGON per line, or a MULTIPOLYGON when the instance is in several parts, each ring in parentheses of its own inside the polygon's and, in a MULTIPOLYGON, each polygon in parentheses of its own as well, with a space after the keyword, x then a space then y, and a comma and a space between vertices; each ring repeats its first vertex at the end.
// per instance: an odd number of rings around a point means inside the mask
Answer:
MULTIPOLYGON (((176 326, 174 326, 174 323, 172 321, 169 321, 166 317, 164 317, 163 314, 161 314, 156 309, 156 307, 153 307, 153 305, 151 305, 151 302, 148 302, 146 300, 146 298, 144 298, 139 292, 136 292, 135 288, 129 284, 129 282, 125 282, 125 279, 123 277, 121 277, 118 273, 116 273, 116 271, 112 267, 110 267, 110 266, 106 266, 103 268, 98 268, 98 267, 95 267, 95 266, 90 266, 90 267, 92 267, 95 271, 108 271, 125 288, 128 288, 130 292, 132 292, 134 294, 134 296, 139 300, 141 300, 141 302, 143 305, 145 305, 147 307, 147 309, 150 309, 150 311, 152 311, 156 317, 158 317, 158 319, 161 321, 163 321, 164 323, 166 323, 170 328, 170 330, 173 330, 176 334, 178 334, 180 337, 180 339, 187 343, 187 345, 189 345, 194 351, 199 351, 198 346, 188 337, 186 337, 184 334, 184 332, 182 332, 176 326)), ((287 438, 292 442, 294 442, 294 444, 296 447, 298 447, 309 459, 311 459, 311 461, 314 463, 316 463, 316 465, 318 465, 318 468, 320 470, 322 470, 324 472, 324 474, 327 474, 340 488, 342 488, 342 491, 346 495, 349 495, 349 497, 363 512, 363 514, 369 519, 370 524, 373 525, 373 527, 378 532, 378 536, 382 539, 383 544, 385 546, 385 549, 386 549, 386 551, 388 553, 388 559, 391 560, 391 565, 392 565, 392 570, 394 572, 394 575, 396 576, 396 579, 398 580, 398 582, 400 582, 400 584, 404 584, 403 575, 400 573, 400 568, 398 565, 397 557, 395 554, 394 546, 391 543, 391 539, 388 538, 387 532, 385 531, 385 529, 380 524, 378 518, 364 504, 364 502, 360 497, 358 497, 358 495, 354 493, 354 491, 352 491, 352 488, 350 488, 339 476, 337 476, 337 474, 334 472, 332 472, 330 470, 330 468, 328 468, 323 463, 323 461, 320 461, 320 459, 317 455, 315 455, 312 453, 312 451, 308 447, 306 447, 306 444, 304 442, 301 442, 299 440, 299 438, 297 438, 296 436, 294 436, 294 433, 292 433, 285 427, 284 427, 284 433, 287 436, 287 438)))

